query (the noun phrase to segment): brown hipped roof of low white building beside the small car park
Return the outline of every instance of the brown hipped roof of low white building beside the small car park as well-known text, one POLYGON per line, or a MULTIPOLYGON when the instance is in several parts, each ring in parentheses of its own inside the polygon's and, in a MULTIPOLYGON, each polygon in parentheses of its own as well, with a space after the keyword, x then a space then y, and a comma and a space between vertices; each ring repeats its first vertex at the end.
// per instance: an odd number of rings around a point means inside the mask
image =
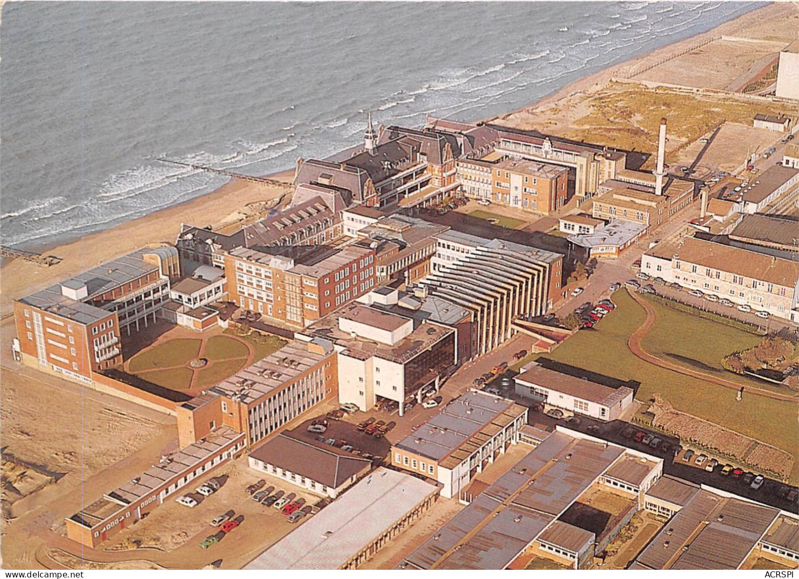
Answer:
POLYGON ((274 465, 324 486, 337 489, 372 461, 360 458, 335 446, 317 445, 281 432, 269 442, 252 450, 250 458, 274 465))

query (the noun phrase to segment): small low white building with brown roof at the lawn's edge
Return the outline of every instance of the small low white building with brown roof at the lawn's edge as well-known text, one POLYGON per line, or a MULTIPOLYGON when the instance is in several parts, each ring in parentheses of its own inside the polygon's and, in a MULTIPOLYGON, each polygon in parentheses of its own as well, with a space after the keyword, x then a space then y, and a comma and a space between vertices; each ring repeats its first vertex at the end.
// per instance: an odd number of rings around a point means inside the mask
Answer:
POLYGON ((599 420, 619 418, 633 402, 631 388, 610 388, 531 362, 515 378, 516 394, 599 420))

